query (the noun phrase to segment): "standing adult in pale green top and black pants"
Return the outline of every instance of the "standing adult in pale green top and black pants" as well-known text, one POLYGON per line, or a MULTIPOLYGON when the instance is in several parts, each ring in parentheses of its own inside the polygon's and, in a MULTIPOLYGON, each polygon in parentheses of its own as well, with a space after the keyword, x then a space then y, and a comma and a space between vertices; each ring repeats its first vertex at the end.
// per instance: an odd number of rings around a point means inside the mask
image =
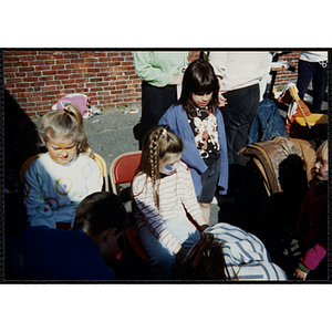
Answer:
POLYGON ((188 55, 188 52, 133 52, 136 75, 143 80, 142 117, 134 127, 139 148, 145 134, 177 101, 188 55))

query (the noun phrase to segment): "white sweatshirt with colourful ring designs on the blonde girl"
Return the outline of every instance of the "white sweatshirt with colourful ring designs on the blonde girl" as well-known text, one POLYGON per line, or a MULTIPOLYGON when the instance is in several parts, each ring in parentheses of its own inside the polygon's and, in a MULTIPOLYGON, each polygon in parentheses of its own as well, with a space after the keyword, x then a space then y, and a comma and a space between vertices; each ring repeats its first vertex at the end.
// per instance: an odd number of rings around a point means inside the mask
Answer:
POLYGON ((25 173, 24 206, 30 226, 72 226, 79 203, 101 191, 102 184, 97 164, 86 155, 81 154, 69 165, 56 164, 48 153, 42 155, 25 173))

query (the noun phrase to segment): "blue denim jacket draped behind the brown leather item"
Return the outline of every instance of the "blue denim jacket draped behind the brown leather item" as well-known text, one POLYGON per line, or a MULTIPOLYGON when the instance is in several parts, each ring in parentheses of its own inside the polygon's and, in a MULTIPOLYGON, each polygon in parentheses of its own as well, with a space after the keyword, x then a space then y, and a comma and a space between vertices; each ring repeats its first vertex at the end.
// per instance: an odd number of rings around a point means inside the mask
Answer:
POLYGON ((272 100, 266 98, 259 103, 257 114, 248 133, 247 144, 272 139, 276 136, 289 137, 289 134, 278 106, 272 100))

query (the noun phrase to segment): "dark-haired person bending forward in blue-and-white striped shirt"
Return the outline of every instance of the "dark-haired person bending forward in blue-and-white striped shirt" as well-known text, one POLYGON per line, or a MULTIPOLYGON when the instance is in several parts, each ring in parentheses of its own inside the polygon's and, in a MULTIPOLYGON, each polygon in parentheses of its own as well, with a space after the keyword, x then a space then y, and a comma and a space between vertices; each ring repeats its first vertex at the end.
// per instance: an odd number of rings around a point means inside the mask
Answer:
POLYGON ((272 263, 262 241, 229 224, 206 229, 188 252, 180 269, 181 280, 287 280, 272 263))

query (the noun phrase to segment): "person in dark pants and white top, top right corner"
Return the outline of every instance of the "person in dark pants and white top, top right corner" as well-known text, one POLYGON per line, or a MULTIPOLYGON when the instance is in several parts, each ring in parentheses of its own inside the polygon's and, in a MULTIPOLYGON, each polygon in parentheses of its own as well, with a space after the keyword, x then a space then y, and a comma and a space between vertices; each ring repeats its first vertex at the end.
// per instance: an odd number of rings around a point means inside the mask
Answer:
POLYGON ((302 101, 311 80, 313 100, 310 111, 312 113, 321 113, 321 106, 328 86, 328 52, 301 52, 298 65, 297 86, 299 97, 302 101))

